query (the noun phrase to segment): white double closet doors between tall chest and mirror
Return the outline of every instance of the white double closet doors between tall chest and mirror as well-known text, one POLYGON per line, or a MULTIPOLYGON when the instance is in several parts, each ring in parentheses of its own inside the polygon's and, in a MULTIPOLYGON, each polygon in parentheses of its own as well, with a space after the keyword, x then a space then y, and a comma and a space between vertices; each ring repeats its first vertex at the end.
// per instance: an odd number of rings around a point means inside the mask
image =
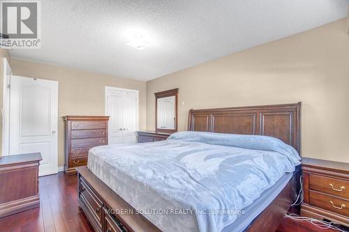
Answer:
POLYGON ((138 130, 138 91, 105 87, 108 144, 135 144, 138 130))

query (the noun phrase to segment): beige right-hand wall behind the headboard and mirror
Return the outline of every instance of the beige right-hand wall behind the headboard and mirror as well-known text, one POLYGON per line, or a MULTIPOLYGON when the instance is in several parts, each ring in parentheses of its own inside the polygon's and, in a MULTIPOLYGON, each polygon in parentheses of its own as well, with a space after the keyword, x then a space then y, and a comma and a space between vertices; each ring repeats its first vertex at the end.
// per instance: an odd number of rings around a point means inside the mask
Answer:
POLYGON ((147 82, 148 130, 154 93, 171 88, 179 88, 179 130, 191 108, 302 101, 302 155, 349 162, 345 19, 147 82))

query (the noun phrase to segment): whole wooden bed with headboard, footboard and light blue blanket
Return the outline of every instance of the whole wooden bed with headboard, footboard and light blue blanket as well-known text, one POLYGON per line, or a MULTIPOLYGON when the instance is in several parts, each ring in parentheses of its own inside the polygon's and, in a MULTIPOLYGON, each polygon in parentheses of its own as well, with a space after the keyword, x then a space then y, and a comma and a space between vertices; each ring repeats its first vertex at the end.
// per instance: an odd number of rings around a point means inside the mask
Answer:
POLYGON ((191 110, 168 141, 91 149, 80 208, 96 231, 275 231, 297 192, 300 106, 191 110))

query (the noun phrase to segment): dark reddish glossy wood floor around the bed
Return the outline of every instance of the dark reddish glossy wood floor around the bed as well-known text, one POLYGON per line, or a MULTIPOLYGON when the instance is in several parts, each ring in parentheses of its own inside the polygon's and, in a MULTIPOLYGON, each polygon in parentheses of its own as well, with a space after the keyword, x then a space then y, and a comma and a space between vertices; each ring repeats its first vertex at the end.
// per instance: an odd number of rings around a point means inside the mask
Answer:
MULTIPOLYGON (((77 208, 77 178, 64 173, 39 178, 40 208, 0 219, 1 232, 91 231, 77 208)), ((332 232, 285 219, 278 232, 332 232)), ((149 231, 150 232, 150 231, 149 231)))

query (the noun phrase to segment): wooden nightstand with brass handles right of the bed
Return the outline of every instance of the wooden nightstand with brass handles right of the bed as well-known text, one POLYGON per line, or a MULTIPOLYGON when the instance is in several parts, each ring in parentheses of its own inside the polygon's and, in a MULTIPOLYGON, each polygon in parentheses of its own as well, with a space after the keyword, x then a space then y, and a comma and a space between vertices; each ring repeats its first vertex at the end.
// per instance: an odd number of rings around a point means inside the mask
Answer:
POLYGON ((349 164, 304 157, 301 215, 349 226, 349 164))

